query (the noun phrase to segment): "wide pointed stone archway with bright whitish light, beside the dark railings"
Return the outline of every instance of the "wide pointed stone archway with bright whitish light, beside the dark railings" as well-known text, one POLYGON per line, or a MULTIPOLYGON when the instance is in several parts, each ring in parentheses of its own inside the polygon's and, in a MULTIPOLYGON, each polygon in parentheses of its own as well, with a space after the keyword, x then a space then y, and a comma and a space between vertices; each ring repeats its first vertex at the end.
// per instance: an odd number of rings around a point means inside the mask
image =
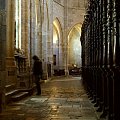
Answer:
POLYGON ((68 69, 81 67, 81 24, 72 27, 68 34, 68 69))

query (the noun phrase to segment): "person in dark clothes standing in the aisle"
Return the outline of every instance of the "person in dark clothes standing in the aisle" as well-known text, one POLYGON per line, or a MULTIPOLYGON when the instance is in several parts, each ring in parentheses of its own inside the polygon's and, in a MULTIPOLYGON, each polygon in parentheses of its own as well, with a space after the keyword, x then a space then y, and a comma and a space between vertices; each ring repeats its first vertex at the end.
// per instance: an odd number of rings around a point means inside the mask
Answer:
POLYGON ((36 84, 37 94, 41 94, 41 86, 40 86, 40 79, 42 78, 42 62, 39 60, 38 56, 34 55, 33 57, 34 64, 33 64, 33 76, 34 82, 36 84))

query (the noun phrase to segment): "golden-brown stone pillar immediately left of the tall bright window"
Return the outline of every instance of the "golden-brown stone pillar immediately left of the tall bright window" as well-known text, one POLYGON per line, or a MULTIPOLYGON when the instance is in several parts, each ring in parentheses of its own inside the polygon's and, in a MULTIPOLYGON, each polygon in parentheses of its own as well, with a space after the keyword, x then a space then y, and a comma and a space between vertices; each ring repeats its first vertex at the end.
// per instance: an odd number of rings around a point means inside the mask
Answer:
POLYGON ((16 66, 14 60, 15 41, 15 1, 7 0, 7 52, 6 52, 6 84, 16 83, 16 66))

